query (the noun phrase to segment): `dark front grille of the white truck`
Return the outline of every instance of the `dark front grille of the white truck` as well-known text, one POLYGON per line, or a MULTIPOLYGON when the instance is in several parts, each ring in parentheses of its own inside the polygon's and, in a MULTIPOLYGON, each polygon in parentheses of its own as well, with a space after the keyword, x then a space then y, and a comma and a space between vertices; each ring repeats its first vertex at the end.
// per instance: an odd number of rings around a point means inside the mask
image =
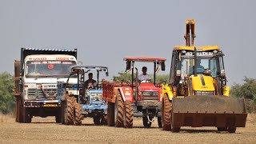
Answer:
POLYGON ((29 89, 28 98, 36 100, 54 100, 57 97, 56 89, 29 89))

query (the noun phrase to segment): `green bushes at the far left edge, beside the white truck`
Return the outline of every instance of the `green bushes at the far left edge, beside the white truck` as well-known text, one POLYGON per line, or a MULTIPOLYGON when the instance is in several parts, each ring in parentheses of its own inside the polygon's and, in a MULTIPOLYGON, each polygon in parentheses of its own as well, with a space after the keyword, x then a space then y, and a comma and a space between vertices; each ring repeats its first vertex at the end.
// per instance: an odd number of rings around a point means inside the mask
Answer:
POLYGON ((0 112, 8 114, 14 112, 14 77, 4 72, 0 74, 0 112))

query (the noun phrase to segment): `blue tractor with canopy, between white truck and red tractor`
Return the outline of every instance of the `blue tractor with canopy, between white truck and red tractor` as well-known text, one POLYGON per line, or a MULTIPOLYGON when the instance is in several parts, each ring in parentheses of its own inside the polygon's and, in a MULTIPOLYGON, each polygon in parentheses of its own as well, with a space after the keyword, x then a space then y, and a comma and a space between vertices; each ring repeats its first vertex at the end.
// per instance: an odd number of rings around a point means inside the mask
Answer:
MULTIPOLYGON (((66 82, 58 82, 58 96, 61 98, 61 122, 66 125, 82 125, 82 119, 94 118, 94 125, 106 125, 106 102, 102 99, 102 82, 99 73, 105 72, 106 66, 71 66, 71 72, 66 82), (85 75, 91 70, 97 71, 97 81, 85 81, 85 75), (77 82, 69 82, 70 78, 77 82)), ((89 78, 90 79, 90 78, 89 78)))

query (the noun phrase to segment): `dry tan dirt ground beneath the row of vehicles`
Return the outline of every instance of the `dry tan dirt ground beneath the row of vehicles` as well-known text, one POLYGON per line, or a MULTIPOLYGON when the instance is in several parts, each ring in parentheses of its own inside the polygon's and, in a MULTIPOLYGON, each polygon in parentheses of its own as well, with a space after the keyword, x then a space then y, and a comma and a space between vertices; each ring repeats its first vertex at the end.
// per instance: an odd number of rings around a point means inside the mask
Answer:
POLYGON ((0 114, 0 143, 256 143, 256 115, 250 114, 246 128, 237 133, 219 133, 214 127, 182 127, 178 134, 158 128, 143 128, 142 118, 134 119, 134 128, 94 126, 85 118, 82 126, 56 124, 54 117, 33 118, 31 123, 14 122, 13 116, 0 114))

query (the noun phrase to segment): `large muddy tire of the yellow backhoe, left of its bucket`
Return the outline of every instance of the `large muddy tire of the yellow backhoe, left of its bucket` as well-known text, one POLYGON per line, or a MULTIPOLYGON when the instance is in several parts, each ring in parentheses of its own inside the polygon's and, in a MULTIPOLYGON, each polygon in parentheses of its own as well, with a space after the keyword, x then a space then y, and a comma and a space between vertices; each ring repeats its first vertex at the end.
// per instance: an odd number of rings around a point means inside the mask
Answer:
POLYGON ((172 104, 167 95, 165 95, 162 99, 162 130, 171 130, 171 110, 172 104))

